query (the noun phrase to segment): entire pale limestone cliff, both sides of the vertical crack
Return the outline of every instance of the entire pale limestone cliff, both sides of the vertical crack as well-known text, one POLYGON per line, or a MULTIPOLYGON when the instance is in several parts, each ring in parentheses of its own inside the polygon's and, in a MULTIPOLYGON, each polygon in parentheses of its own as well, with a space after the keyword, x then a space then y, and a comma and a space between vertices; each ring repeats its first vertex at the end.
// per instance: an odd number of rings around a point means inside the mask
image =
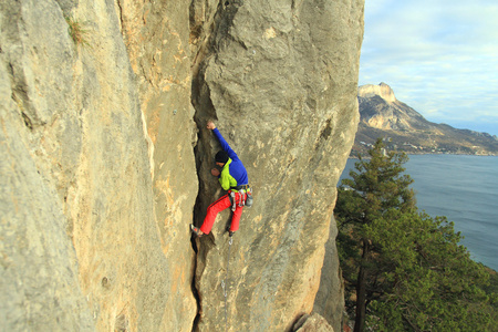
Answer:
POLYGON ((339 329, 363 0, 2 1, 0 25, 1 326, 339 329), (255 190, 230 252, 228 212, 188 229, 221 194, 208 118, 255 190))

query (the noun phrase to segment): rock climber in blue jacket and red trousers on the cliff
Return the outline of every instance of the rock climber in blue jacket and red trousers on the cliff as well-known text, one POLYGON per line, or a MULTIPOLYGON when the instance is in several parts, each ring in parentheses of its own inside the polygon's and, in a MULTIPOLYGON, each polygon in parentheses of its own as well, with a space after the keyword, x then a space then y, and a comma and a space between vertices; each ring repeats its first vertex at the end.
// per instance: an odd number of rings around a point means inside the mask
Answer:
POLYGON ((215 156, 215 163, 221 168, 221 172, 217 168, 212 168, 211 175, 219 178, 221 187, 224 190, 227 190, 228 194, 224 195, 208 207, 206 218, 200 228, 190 224, 190 229, 197 237, 209 234, 218 212, 231 207, 234 215, 231 217, 230 228, 228 229, 229 236, 231 237, 239 229, 240 216, 242 215, 243 204, 247 198, 246 193, 249 188, 249 179, 242 162, 225 141, 224 136, 221 136, 212 121, 208 121, 207 128, 215 133, 222 148, 222 151, 219 151, 215 156))

